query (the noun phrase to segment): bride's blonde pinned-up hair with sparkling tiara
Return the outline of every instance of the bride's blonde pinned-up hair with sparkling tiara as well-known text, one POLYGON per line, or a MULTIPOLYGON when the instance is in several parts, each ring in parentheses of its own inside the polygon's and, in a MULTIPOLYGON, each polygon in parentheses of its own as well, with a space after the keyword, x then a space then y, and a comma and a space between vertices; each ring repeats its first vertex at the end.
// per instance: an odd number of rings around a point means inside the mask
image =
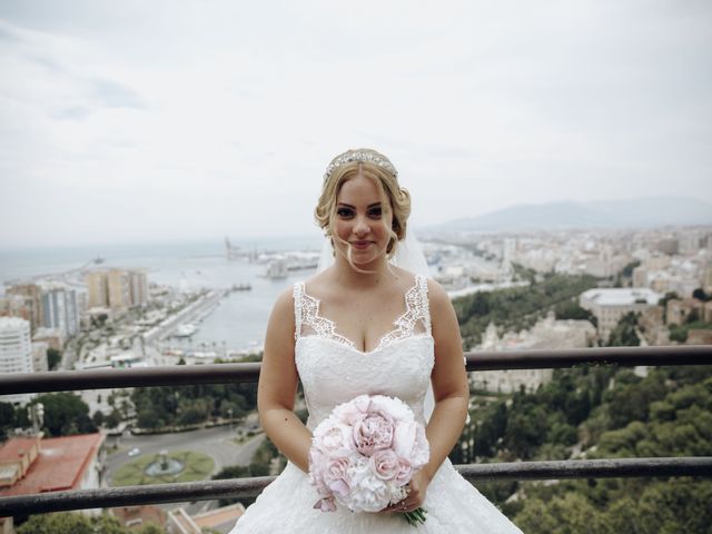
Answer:
MULTIPOLYGON (((344 184, 359 174, 370 179, 380 191, 382 198, 388 200, 384 202, 382 209, 384 211, 390 210, 393 215, 392 226, 386 228, 390 236, 386 255, 390 258, 396 251, 397 243, 406 235, 408 216, 411 215, 411 194, 398 185, 397 172, 393 164, 376 150, 367 148, 347 150, 332 160, 324 176, 322 195, 314 210, 314 217, 326 235, 334 239, 332 228, 336 218, 336 198, 344 184)), ((386 225, 385 219, 383 219, 383 224, 386 225)), ((350 247, 347 259, 356 269, 350 259, 350 247)))

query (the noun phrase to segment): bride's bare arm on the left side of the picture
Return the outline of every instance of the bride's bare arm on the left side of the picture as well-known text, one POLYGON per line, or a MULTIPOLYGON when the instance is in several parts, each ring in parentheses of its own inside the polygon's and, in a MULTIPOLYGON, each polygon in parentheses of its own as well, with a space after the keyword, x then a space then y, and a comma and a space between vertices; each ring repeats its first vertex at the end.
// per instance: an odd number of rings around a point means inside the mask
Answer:
POLYGON ((307 472, 312 434, 294 413, 297 367, 294 360, 294 300, 285 291, 275 303, 257 387, 257 411, 267 436, 281 453, 307 472))

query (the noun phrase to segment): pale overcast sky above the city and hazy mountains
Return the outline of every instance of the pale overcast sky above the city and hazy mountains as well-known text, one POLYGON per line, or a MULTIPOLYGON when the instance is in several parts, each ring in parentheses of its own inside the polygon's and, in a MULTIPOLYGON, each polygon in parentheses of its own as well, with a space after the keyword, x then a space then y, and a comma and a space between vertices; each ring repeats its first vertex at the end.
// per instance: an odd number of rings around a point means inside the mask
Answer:
POLYGON ((712 2, 0 2, 0 247, 315 233, 390 157, 429 225, 712 201, 712 2))

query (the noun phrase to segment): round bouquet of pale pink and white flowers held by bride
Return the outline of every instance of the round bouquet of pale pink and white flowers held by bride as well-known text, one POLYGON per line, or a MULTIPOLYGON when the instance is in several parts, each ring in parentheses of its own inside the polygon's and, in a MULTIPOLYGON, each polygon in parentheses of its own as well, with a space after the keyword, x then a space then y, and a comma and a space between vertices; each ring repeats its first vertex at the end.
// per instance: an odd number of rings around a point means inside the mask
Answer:
MULTIPOLYGON (((407 484, 428 461, 425 428, 400 399, 360 395, 334 408, 314 431, 309 481, 322 497, 314 507, 378 512, 404 500, 407 484)), ((425 511, 404 513, 413 525, 425 511)))

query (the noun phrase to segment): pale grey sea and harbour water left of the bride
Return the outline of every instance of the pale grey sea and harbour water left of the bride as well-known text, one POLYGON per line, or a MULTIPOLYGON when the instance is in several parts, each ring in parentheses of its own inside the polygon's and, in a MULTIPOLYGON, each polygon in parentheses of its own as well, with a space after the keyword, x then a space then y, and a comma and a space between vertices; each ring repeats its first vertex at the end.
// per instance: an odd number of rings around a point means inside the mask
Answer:
MULTIPOLYGON (((240 239, 233 241, 257 255, 287 250, 318 251, 322 237, 314 236, 240 239)), ((265 328, 277 296, 312 270, 289 273, 287 278, 264 277, 264 264, 228 259, 221 239, 196 243, 154 243, 138 245, 91 245, 61 248, 0 250, 0 293, 13 281, 58 276, 90 267, 146 269, 148 281, 181 290, 226 289, 249 284, 250 290, 233 291, 197 325, 194 347, 220 352, 256 352, 265 339, 265 328), (102 258, 100 265, 96 258, 102 258)))

